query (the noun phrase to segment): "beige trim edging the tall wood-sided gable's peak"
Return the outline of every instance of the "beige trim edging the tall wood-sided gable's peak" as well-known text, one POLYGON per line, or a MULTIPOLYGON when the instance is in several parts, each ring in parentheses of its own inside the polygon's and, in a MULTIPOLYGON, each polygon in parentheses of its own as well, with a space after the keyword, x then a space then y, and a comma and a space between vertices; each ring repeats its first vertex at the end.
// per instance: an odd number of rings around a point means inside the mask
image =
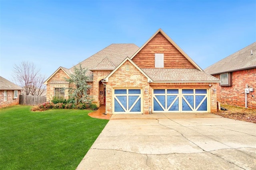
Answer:
POLYGON ((174 45, 174 47, 176 47, 176 49, 178 49, 178 51, 180 51, 180 53, 182 53, 182 55, 184 55, 184 57, 186 57, 186 59, 188 59, 188 61, 190 61, 190 63, 192 63, 192 65, 194 65, 197 69, 199 69, 200 71, 203 71, 203 69, 201 69, 161 28, 159 28, 155 34, 153 34, 153 36, 151 36, 148 41, 146 41, 131 57, 131 59, 133 57, 136 56, 136 54, 138 54, 140 52, 140 50, 142 50, 145 45, 147 45, 148 42, 150 42, 150 40, 152 40, 152 38, 154 38, 156 36, 156 34, 161 33, 170 43, 172 43, 172 45, 174 45))

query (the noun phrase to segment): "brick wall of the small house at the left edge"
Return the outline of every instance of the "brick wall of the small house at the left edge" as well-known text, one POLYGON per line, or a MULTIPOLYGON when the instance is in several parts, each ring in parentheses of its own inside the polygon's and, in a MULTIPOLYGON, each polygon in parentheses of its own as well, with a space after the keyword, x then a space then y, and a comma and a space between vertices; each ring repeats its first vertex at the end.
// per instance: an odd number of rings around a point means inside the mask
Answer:
POLYGON ((18 105, 20 101, 20 93, 18 90, 18 98, 14 99, 14 90, 7 90, 7 101, 4 101, 4 90, 0 90, 0 108, 12 105, 18 105))

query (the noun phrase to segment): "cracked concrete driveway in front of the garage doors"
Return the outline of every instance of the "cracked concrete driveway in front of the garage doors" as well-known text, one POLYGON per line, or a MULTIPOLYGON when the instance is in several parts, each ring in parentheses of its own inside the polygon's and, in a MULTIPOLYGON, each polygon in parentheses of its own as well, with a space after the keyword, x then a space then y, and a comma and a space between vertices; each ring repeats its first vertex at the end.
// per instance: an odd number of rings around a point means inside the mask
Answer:
POLYGON ((256 124, 210 113, 112 115, 78 170, 256 169, 256 124))

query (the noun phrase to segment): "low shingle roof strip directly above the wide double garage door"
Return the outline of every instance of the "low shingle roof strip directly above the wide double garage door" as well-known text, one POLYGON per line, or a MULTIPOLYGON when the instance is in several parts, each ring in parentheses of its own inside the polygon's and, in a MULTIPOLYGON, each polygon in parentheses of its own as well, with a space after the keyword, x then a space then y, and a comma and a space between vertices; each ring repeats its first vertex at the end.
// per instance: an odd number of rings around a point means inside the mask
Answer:
POLYGON ((219 82, 212 75, 198 69, 142 69, 153 81, 219 82))

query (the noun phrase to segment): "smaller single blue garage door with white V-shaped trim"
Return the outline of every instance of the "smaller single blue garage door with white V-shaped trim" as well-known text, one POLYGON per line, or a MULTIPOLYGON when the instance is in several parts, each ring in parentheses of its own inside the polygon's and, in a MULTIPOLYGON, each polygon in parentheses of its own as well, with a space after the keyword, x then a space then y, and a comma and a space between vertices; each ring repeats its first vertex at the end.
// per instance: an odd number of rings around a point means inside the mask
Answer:
POLYGON ((142 113, 141 89, 114 89, 114 114, 142 113))

